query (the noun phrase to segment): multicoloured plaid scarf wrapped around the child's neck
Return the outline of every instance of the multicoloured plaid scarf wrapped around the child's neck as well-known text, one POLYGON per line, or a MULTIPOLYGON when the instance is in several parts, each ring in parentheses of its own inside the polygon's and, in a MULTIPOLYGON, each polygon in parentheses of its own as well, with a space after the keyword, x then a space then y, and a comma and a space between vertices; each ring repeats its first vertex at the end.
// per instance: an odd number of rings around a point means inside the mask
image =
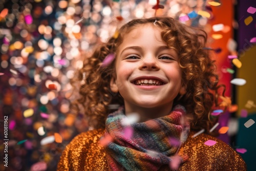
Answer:
MULTIPOLYGON (((189 125, 184 122, 185 108, 176 105, 169 115, 140 123, 129 123, 123 106, 106 119, 104 137, 110 170, 170 170, 187 160, 178 155, 186 141, 189 125), (183 120, 183 121, 182 121, 183 120), (183 122, 183 123, 181 123, 183 122)), ((104 138, 102 137, 102 138, 104 138)))

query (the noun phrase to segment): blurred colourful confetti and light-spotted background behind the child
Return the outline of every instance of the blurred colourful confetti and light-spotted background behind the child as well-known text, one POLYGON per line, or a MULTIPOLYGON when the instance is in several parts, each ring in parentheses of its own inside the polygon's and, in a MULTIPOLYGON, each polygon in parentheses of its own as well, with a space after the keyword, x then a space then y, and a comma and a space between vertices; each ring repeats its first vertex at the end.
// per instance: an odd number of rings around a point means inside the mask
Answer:
POLYGON ((69 79, 85 54, 123 23, 161 15, 208 33, 223 101, 232 103, 219 138, 255 170, 255 0, 1 0, 0 170, 56 170, 72 138, 93 129, 69 109, 69 79))

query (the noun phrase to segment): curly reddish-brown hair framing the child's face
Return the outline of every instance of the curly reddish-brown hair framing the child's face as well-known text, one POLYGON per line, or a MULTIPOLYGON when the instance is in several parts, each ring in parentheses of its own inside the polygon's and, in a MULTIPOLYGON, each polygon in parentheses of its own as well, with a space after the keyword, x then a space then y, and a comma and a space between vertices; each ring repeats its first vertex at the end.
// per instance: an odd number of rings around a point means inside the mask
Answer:
POLYGON ((186 86, 186 94, 178 95, 174 105, 179 103, 185 106, 190 118, 191 130, 205 129, 206 133, 217 121, 210 113, 214 106, 218 106, 219 89, 225 86, 218 85, 219 78, 215 74, 215 61, 210 58, 209 49, 205 48, 207 33, 180 23, 170 17, 152 17, 133 19, 118 29, 118 37, 111 37, 107 42, 97 46, 93 54, 84 60, 83 67, 76 71, 71 84, 77 87, 82 79, 84 84, 79 86, 80 97, 71 102, 71 109, 79 111, 82 106, 84 115, 95 129, 105 126, 106 116, 112 112, 110 104, 123 105, 123 98, 119 93, 110 90, 110 80, 115 74, 115 59, 101 67, 102 61, 110 53, 115 53, 123 42, 125 34, 140 25, 151 23, 161 29, 161 37, 168 47, 178 53, 178 63, 182 70, 182 82, 186 86), (86 73, 84 78, 82 75, 86 73))

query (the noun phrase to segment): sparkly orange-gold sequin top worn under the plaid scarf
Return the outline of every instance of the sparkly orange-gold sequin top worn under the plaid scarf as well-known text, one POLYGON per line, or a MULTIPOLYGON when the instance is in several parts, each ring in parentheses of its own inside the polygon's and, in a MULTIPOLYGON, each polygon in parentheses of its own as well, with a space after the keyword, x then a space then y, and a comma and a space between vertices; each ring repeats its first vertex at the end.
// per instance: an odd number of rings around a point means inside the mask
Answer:
MULTIPOLYGON (((77 135, 63 151, 57 170, 108 170, 104 148, 98 144, 103 134, 104 130, 99 129, 77 135)), ((179 170, 246 170, 242 157, 229 145, 206 134, 192 138, 194 134, 190 132, 180 148, 179 155, 187 154, 189 159, 179 170), (204 144, 207 140, 217 143, 208 146, 204 144)))

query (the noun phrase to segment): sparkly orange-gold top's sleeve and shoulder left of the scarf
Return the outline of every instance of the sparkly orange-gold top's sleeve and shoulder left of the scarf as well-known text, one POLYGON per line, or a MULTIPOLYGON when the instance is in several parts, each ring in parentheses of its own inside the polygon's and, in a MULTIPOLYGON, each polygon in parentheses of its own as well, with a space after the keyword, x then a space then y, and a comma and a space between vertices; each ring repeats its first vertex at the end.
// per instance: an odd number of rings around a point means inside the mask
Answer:
POLYGON ((64 149, 57 170, 108 170, 105 152, 98 144, 103 130, 93 130, 76 136, 64 149))

